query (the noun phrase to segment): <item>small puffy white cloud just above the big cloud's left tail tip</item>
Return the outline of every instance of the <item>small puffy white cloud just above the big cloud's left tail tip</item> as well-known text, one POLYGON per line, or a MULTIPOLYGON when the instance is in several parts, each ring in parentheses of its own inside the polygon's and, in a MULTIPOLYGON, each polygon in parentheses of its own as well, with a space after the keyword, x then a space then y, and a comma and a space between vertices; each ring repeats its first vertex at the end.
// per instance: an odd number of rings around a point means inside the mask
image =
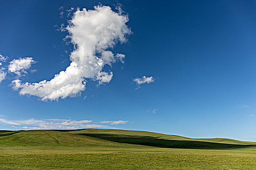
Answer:
POLYGON ((30 68, 31 64, 34 63, 35 61, 32 57, 13 59, 8 66, 8 70, 21 76, 21 73, 27 73, 26 69, 30 68))

